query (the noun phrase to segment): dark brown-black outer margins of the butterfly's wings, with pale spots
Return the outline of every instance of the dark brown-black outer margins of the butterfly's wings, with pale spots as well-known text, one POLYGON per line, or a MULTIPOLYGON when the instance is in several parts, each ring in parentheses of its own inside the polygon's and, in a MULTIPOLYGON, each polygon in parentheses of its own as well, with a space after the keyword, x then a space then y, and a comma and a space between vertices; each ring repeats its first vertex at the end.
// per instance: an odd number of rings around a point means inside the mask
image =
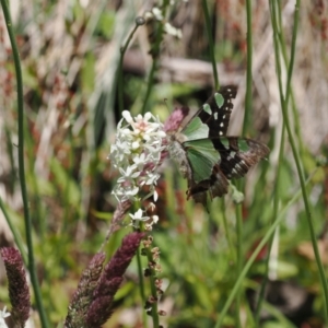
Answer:
MULTIPOLYGON (((210 198, 222 197, 227 192, 227 179, 241 178, 249 168, 266 157, 269 149, 255 140, 238 137, 226 137, 232 99, 236 97, 237 89, 234 85, 221 87, 215 92, 192 117, 209 127, 209 139, 220 153, 220 161, 213 166, 208 179, 196 183, 190 174, 188 178, 188 198, 201 202, 207 207, 208 194, 210 198)), ((181 133, 188 127, 183 128, 181 133)))

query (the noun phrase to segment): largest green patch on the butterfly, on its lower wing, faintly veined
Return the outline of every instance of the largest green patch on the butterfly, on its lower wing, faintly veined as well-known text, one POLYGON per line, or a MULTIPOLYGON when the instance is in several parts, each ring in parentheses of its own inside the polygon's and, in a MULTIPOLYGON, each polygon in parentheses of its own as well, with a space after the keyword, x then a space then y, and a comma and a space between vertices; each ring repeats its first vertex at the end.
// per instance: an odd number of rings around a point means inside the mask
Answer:
POLYGON ((212 141, 210 139, 187 141, 184 143, 184 148, 191 166, 194 181, 198 184, 209 179, 214 165, 221 159, 212 141))

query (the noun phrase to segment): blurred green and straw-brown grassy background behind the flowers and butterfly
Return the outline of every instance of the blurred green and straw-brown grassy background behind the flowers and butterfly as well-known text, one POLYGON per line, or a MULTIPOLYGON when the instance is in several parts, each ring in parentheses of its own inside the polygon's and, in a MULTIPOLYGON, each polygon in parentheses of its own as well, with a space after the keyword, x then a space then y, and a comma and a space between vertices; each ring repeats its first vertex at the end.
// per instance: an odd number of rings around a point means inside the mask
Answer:
MULTIPOLYGON (((174 163, 162 166, 160 222, 152 232, 164 283, 159 308, 166 316, 160 321, 164 327, 328 327, 327 3, 30 0, 10 5, 23 70, 33 248, 50 327, 63 321, 117 207, 110 195, 117 175, 109 174, 107 155, 121 110, 150 110, 164 120, 176 106, 200 106, 219 83, 238 86, 229 134, 260 140, 271 152, 234 181, 245 200, 235 203, 232 189, 212 202, 210 213, 186 201, 186 181, 174 163), (155 5, 163 21, 132 33, 136 17, 155 5), (165 22, 181 37, 163 33, 165 22)), ((0 196, 8 213, 0 213, 0 246, 16 243, 26 257, 16 78, 2 11, 0 81, 0 196)), ((108 258, 130 230, 122 226, 113 235, 108 258)), ((0 273, 2 308, 9 296, 0 273)), ((142 315, 139 285, 133 261, 105 327, 152 327, 142 315)), ((36 311, 32 318, 38 327, 36 311)))

